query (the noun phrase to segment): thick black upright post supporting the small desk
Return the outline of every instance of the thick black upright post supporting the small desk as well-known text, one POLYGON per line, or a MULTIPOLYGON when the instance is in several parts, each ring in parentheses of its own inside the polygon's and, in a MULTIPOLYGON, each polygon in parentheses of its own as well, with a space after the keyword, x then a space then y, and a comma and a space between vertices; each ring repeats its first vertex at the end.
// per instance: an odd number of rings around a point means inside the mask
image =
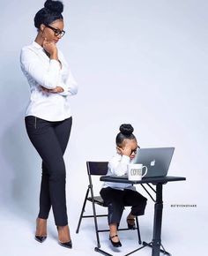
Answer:
POLYGON ((157 184, 156 185, 156 203, 154 205, 152 256, 160 256, 162 208, 163 208, 162 184, 157 184))

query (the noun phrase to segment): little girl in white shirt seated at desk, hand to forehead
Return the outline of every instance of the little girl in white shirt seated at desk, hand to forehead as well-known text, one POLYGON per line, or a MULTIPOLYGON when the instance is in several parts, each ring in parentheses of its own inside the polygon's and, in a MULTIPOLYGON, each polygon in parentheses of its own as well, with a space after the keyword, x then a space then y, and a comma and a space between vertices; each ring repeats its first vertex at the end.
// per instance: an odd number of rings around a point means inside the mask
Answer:
MULTIPOLYGON (((130 124, 122 124, 117 134, 115 156, 108 162, 109 176, 122 176, 127 174, 127 166, 137 153, 137 139, 132 133, 134 128, 130 124)), ((109 239, 113 246, 122 246, 117 235, 117 227, 121 221, 124 207, 130 207, 127 225, 135 229, 135 217, 145 214, 146 198, 136 191, 135 186, 125 183, 105 182, 100 190, 104 204, 108 206, 109 239)))

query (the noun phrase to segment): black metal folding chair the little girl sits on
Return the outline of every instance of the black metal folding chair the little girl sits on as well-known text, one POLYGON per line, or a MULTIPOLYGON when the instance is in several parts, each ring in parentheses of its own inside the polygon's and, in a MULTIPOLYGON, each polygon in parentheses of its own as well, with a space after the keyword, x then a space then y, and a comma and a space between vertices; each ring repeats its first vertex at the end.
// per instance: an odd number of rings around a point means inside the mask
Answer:
MULTIPOLYGON (((82 222, 83 218, 92 218, 94 219, 94 227, 95 227, 95 232, 96 232, 96 238, 97 238, 97 250, 95 248, 96 251, 100 251, 98 248, 100 248, 100 237, 99 237, 99 233, 100 232, 106 232, 109 230, 99 230, 98 229, 98 221, 97 221, 97 217, 104 217, 104 216, 108 216, 108 215, 97 215, 96 213, 96 209, 95 209, 95 204, 101 206, 101 207, 107 207, 103 204, 103 200, 101 199, 100 196, 94 196, 93 193, 93 176, 103 176, 106 175, 108 172, 108 162, 86 162, 86 168, 87 168, 87 174, 88 174, 88 178, 89 178, 89 184, 88 184, 88 188, 86 190, 85 193, 85 200, 83 203, 83 207, 81 210, 81 214, 78 220, 78 228, 76 230, 76 233, 78 233, 79 228, 80 228, 80 224, 82 222), (88 197, 90 192, 90 197, 88 197), (90 201, 93 205, 93 215, 84 215, 85 213, 85 204, 86 201, 90 201)), ((138 225, 138 220, 136 217, 136 229, 137 230, 137 237, 138 237, 138 244, 141 245, 141 236, 140 236, 140 231, 139 231, 139 225, 138 225)), ((129 229, 118 229, 118 230, 129 230, 129 229)), ((103 252, 103 251, 102 251, 103 252)), ((108 253, 106 253, 106 255, 110 255, 108 253)))

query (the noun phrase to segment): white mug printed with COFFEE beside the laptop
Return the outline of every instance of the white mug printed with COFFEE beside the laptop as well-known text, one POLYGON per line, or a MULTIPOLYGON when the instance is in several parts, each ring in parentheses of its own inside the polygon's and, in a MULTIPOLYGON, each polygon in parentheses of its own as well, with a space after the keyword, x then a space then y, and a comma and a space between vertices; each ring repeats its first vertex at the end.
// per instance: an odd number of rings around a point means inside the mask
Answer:
POLYGON ((130 163, 128 164, 128 179, 129 180, 141 180, 147 173, 147 167, 142 163, 130 163), (145 173, 143 169, 145 168, 145 173))

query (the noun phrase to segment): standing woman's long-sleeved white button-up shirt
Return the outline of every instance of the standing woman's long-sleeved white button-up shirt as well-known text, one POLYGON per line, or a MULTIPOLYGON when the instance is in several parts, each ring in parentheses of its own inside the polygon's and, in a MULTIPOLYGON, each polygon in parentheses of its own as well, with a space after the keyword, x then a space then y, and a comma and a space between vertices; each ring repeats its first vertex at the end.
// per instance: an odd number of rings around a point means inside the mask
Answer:
POLYGON ((78 93, 78 84, 60 50, 58 58, 61 64, 55 59, 50 59, 41 45, 35 41, 21 50, 21 69, 31 90, 26 116, 39 117, 47 121, 62 121, 71 117, 69 98, 78 93), (47 93, 41 87, 63 87, 63 93, 47 93))

